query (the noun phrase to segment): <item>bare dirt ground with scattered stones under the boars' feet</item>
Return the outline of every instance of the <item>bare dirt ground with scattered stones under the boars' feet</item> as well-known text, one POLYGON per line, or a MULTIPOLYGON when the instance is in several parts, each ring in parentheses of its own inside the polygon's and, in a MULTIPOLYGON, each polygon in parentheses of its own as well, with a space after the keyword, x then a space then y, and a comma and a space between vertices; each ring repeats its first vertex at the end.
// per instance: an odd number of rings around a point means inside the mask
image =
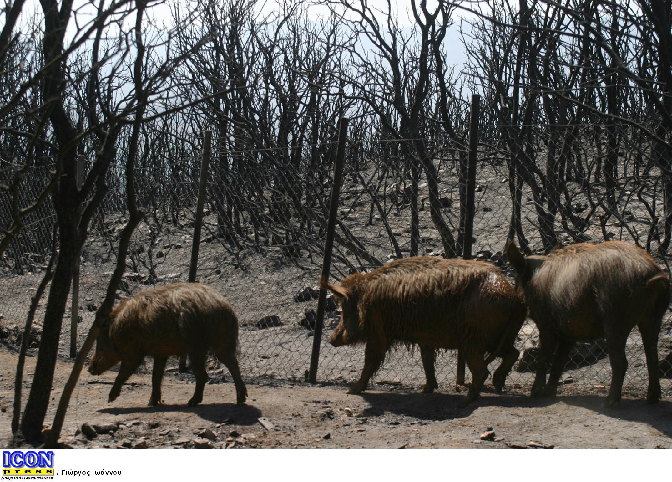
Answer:
MULTIPOLYGON (((35 362, 33 353, 26 363, 27 380, 35 362)), ((1 348, 5 446, 15 363, 16 353, 1 348)), ((65 361, 56 366, 49 423, 71 367, 65 361)), ((601 387, 582 395, 561 392, 555 399, 531 399, 527 389, 503 395, 486 389, 478 401, 460 408, 464 391, 454 389, 427 395, 415 387, 378 385, 362 395, 347 395, 345 385, 256 379, 247 380, 247 403, 236 405, 230 376, 222 380, 216 374, 206 385, 203 403, 187 407, 193 376, 170 370, 163 380, 165 405, 148 407, 147 368, 129 379, 114 403, 107 398, 116 372, 85 372, 62 441, 74 448, 672 448, 671 399, 648 405, 643 394, 626 393, 619 407, 604 411, 606 389, 601 387)), ((24 400, 29 388, 24 383, 24 400)))

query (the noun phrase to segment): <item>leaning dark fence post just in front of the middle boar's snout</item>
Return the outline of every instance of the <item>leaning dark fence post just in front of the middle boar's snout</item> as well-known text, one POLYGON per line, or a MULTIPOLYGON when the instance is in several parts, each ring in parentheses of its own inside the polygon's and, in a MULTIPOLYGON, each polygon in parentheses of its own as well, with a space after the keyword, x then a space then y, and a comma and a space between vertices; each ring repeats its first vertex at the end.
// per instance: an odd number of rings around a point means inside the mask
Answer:
MULTIPOLYGON (((347 117, 341 117, 339 121, 338 149, 334 165, 334 182, 331 185, 331 204, 329 204, 329 223, 327 224, 327 241, 325 243, 325 259, 322 263, 321 280, 329 280, 331 268, 331 250, 334 245, 334 231, 336 229, 336 216, 338 215, 338 200, 341 190, 341 178, 343 177, 343 158, 345 157, 345 140, 347 139, 347 117)), ((317 317, 315 330, 312 337, 312 353, 310 354, 310 370, 308 381, 317 381, 317 362, 320 358, 320 345, 322 343, 322 325, 325 318, 325 305, 327 304, 327 290, 320 286, 320 296, 317 300, 317 317)))

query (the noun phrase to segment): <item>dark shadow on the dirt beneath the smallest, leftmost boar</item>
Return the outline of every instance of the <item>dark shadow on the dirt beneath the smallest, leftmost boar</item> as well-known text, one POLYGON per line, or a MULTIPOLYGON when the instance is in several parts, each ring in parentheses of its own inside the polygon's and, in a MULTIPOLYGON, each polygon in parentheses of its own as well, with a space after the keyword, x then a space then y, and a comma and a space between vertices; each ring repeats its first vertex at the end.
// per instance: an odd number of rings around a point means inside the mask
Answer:
POLYGON ((261 417, 261 411, 253 405, 237 405, 235 403, 202 403, 196 407, 189 405, 154 405, 147 407, 114 407, 98 410, 100 413, 110 415, 128 415, 130 413, 167 413, 183 412, 194 413, 202 419, 216 424, 222 419, 230 419, 232 424, 253 425, 261 417))

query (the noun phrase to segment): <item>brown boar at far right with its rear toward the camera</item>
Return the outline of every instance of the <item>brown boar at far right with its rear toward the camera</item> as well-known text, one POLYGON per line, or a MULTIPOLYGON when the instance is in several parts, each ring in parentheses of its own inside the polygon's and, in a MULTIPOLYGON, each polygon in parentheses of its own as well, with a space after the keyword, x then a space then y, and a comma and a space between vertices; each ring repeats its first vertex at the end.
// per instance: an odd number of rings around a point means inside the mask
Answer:
POLYGON ((507 255, 517 272, 530 317, 539 329, 540 358, 533 396, 555 395, 576 340, 605 337, 612 364, 612 385, 605 406, 618 403, 628 368, 626 341, 637 325, 648 366, 646 401, 658 401, 658 334, 670 302, 670 282, 646 251, 621 241, 607 241, 561 247, 548 256, 523 257, 509 243, 507 255), (546 383, 546 364, 551 360, 546 383))

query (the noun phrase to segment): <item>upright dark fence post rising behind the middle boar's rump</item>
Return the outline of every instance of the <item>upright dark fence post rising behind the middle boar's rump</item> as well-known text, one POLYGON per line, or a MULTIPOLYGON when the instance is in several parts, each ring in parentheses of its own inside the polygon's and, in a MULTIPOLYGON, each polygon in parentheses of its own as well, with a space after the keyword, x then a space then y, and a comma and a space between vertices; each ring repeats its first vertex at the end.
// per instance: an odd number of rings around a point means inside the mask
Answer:
MULTIPOLYGON (((474 236, 474 213, 476 210, 476 154, 478 153, 478 111, 480 95, 471 96, 471 117, 469 122, 469 156, 466 174, 466 215, 464 220, 464 244, 462 259, 471 259, 471 245, 474 236)), ((458 350, 458 368, 456 385, 464 385, 465 361, 464 354, 458 350)))

